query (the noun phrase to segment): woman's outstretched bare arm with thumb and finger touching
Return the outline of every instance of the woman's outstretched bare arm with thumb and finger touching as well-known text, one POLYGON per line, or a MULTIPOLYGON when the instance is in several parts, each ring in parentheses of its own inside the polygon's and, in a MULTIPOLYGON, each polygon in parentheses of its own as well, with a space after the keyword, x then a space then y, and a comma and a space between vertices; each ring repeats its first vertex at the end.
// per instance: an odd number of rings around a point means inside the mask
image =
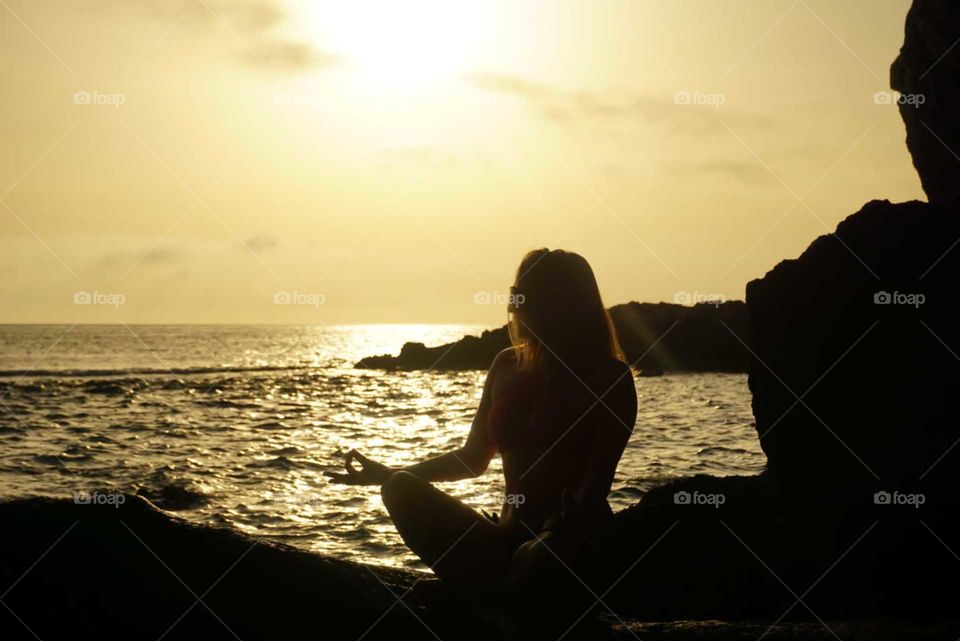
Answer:
POLYGON ((376 485, 386 481, 391 474, 401 469, 416 474, 425 481, 459 481, 483 474, 496 453, 496 448, 487 434, 487 416, 493 402, 493 387, 502 374, 514 363, 513 350, 508 349, 497 354, 487 379, 483 385, 480 405, 470 425, 466 442, 452 452, 439 454, 420 463, 404 468, 391 468, 371 461, 356 450, 347 454, 346 473, 328 473, 334 482, 351 485, 376 485), (354 468, 353 460, 360 463, 360 469, 354 468))

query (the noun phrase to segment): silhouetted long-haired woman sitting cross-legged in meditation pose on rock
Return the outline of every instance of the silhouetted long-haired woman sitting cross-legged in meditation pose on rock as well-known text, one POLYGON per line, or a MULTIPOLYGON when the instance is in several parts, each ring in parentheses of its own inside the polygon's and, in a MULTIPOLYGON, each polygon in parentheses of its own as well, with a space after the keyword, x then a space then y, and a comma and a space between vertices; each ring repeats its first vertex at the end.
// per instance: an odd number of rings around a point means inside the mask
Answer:
POLYGON ((582 256, 531 251, 510 291, 513 346, 490 367, 466 442, 403 469, 354 450, 346 472, 330 474, 382 484, 410 549, 440 578, 467 586, 525 584, 604 534, 613 516, 607 494, 637 414, 633 376, 582 256), (479 476, 498 452, 506 481, 499 518, 431 485, 479 476))

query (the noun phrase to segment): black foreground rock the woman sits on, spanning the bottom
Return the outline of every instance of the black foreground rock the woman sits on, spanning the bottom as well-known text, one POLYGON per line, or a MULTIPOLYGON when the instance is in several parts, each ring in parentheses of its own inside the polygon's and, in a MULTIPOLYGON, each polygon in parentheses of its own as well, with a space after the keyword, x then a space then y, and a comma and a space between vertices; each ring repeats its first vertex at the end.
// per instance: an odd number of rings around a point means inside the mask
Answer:
POLYGON ((602 554, 494 607, 449 586, 408 592, 423 575, 191 525, 133 496, 119 508, 15 501, 0 504, 0 632, 44 641, 957 638, 950 579, 960 562, 946 549, 960 549, 955 524, 929 506, 884 507, 837 521, 790 508, 763 477, 680 480, 618 514, 602 554), (723 501, 678 502, 678 492, 723 501))

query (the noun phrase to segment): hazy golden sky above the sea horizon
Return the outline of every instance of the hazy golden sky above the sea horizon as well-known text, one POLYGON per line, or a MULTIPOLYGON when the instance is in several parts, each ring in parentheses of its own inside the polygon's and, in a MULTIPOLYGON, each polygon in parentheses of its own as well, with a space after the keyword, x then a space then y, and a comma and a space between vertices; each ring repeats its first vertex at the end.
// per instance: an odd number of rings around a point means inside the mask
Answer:
POLYGON ((0 0, 0 322, 496 326, 544 246, 742 299, 923 199, 908 6, 0 0))

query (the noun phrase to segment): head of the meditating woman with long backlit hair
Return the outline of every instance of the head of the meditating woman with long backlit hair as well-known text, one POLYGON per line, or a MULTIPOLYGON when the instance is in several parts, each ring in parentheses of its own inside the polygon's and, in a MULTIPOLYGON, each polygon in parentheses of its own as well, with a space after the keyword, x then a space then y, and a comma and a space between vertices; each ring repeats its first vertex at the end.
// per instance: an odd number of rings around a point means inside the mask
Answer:
POLYGON ((511 290, 510 339, 524 367, 562 360, 623 360, 590 264, 562 249, 528 252, 511 290))

